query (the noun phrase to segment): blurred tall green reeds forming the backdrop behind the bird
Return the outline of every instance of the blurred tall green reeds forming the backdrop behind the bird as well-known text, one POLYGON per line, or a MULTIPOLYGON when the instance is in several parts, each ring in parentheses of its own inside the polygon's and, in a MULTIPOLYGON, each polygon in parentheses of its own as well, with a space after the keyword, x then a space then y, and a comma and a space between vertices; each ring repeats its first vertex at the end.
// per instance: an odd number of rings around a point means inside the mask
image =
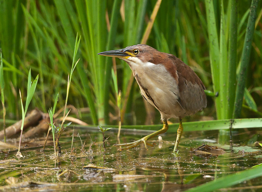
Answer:
MULTIPOLYGON (((81 42, 76 58, 80 60, 68 97, 76 116, 100 125, 116 124, 121 113, 125 124, 160 123, 160 114, 155 109, 146 110, 129 66, 119 59, 97 55, 139 44, 156 2, 0 0, 6 119, 21 118, 19 89, 25 101, 30 68, 32 78, 39 74, 39 81, 29 109, 37 107, 47 112, 57 93, 57 109, 63 108, 78 33, 81 42)), ((261 117, 261 1, 253 19, 253 40, 249 40, 251 46, 246 46, 251 54, 245 68, 247 78, 240 110, 243 107, 240 115, 233 116, 240 61, 242 53, 247 52, 243 47, 251 3, 251 0, 161 2, 146 44, 182 59, 207 90, 218 93, 218 97, 208 96, 207 108, 187 121, 261 117)))

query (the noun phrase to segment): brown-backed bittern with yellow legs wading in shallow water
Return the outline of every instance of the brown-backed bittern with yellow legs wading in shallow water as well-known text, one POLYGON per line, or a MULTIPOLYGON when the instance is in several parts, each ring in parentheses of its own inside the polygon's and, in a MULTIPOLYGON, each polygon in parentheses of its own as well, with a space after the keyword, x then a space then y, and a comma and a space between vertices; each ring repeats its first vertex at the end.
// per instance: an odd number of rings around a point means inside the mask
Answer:
POLYGON ((183 61, 172 54, 160 52, 145 44, 124 49, 104 51, 98 55, 116 57, 128 63, 136 79, 141 95, 161 114, 162 129, 143 138, 123 144, 118 150, 127 150, 144 143, 168 130, 167 120, 178 118, 176 152, 183 133, 182 118, 202 110, 207 105, 206 88, 197 74, 183 61))

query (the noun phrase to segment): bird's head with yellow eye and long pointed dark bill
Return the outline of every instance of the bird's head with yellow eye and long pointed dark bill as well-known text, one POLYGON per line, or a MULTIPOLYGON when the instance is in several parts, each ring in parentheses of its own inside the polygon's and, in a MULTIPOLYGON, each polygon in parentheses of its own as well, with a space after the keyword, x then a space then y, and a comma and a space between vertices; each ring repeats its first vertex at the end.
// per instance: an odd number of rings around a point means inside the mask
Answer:
POLYGON ((124 61, 128 63, 135 62, 135 61, 137 62, 141 61, 144 63, 144 62, 151 61, 155 56, 159 55, 156 52, 160 53, 153 47, 150 47, 144 44, 139 44, 139 45, 132 45, 124 49, 104 51, 104 52, 98 53, 98 55, 104 55, 108 57, 117 57, 117 58, 123 59, 124 61))

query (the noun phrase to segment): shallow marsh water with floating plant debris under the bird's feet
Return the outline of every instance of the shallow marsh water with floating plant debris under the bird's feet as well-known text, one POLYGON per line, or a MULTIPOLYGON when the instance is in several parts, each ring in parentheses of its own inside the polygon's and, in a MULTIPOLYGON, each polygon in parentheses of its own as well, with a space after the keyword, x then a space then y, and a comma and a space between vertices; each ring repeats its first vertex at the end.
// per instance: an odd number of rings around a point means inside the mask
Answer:
MULTIPOLYGON (((8 154, 0 153, 0 190, 185 191, 262 163, 261 147, 252 147, 252 143, 262 139, 260 129, 234 131, 231 144, 222 138, 227 136, 221 136, 221 132, 219 136, 219 131, 184 132, 178 147, 178 158, 171 154, 176 135, 168 131, 162 135, 162 142, 157 137, 150 140, 148 143, 153 147, 148 145, 148 151, 144 144, 129 151, 117 151, 112 146, 117 143, 113 129, 105 132, 105 137, 109 137, 105 142, 106 150, 102 145, 102 133, 89 131, 89 136, 87 130, 75 129, 75 149, 71 155, 71 128, 60 139, 62 154, 58 158, 52 157, 54 150, 51 140, 45 150, 42 145, 38 146, 44 138, 26 141, 26 149, 21 150, 24 155, 21 159, 14 157, 16 150, 8 154), (85 142, 82 150, 78 132, 82 143, 85 142), (221 143, 223 140, 224 144, 221 143), (190 147, 197 148, 202 143, 224 148, 226 153, 201 158, 190 152, 190 147), (90 163, 103 169, 83 168, 90 163)), ((135 133, 125 134, 122 131, 121 143, 132 142, 144 136, 139 131, 135 133)), ((13 140, 8 141, 11 142, 13 140)), ((257 177, 217 191, 261 191, 261 188, 262 178, 257 177)))

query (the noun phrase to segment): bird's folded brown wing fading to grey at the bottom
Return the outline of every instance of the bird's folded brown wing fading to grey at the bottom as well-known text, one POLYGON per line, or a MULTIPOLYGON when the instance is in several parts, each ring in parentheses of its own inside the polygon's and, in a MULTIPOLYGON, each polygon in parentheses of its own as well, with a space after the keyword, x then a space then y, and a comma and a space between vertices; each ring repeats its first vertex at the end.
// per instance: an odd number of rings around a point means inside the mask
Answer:
POLYGON ((206 107, 206 89, 197 74, 177 57, 172 58, 177 69, 180 100, 185 109, 199 111, 206 107))

